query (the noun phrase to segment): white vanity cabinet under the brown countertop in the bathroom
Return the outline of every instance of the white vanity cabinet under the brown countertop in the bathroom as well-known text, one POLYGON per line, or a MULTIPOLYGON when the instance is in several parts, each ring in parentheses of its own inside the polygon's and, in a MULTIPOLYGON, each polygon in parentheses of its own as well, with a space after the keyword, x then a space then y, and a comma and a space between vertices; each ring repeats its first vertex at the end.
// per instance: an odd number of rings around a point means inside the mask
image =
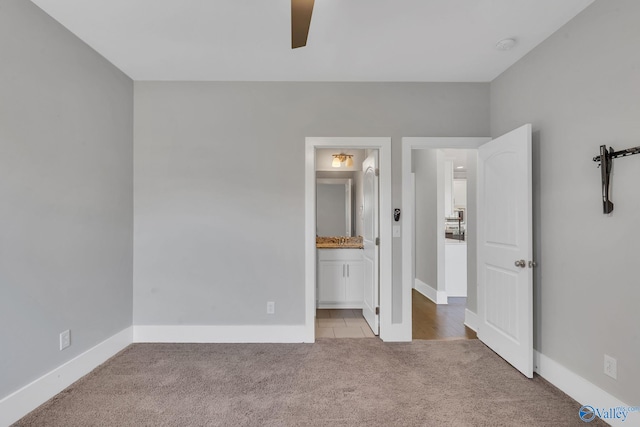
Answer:
POLYGON ((362 308, 362 249, 318 249, 318 308, 362 308))

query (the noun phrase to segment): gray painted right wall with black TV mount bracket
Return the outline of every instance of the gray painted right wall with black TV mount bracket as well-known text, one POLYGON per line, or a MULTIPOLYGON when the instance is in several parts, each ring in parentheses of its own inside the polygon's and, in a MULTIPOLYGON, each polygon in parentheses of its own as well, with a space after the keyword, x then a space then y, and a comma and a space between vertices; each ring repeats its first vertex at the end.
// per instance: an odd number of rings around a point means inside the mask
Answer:
MULTIPOLYGON (((491 133, 534 130, 535 348, 640 402, 640 156, 615 160, 602 214, 601 144, 640 145, 640 2, 597 0, 491 84, 491 133), (603 355, 618 359, 618 380, 603 355)), ((597 402, 593 403, 594 405, 597 402)))

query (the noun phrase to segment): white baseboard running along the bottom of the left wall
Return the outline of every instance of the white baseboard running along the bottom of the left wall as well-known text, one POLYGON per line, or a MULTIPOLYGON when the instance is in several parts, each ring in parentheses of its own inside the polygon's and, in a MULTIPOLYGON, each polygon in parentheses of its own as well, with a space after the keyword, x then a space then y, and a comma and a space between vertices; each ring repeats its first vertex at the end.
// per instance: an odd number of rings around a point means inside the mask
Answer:
POLYGON ((11 425, 133 341, 128 327, 0 400, 0 426, 11 425))

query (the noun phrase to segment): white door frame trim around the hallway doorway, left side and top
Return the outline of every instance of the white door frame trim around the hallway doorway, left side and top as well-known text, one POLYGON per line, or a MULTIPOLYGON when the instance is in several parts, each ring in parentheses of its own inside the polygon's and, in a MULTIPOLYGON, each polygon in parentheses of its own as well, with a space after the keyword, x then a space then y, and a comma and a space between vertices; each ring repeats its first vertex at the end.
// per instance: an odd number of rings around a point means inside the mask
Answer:
POLYGON ((404 137, 402 138, 402 327, 403 336, 411 340, 411 289, 414 281, 414 214, 415 194, 411 177, 411 153, 414 149, 459 148, 478 149, 491 141, 489 137, 404 137))

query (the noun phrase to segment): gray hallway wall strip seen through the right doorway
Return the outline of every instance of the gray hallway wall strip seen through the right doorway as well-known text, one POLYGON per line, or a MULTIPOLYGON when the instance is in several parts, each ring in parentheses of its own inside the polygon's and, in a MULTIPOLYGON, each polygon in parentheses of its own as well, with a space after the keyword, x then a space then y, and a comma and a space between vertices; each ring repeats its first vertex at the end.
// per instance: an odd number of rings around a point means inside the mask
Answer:
POLYGON ((413 150, 411 156, 416 183, 416 278, 434 290, 438 289, 438 160, 442 161, 438 151, 413 150))

